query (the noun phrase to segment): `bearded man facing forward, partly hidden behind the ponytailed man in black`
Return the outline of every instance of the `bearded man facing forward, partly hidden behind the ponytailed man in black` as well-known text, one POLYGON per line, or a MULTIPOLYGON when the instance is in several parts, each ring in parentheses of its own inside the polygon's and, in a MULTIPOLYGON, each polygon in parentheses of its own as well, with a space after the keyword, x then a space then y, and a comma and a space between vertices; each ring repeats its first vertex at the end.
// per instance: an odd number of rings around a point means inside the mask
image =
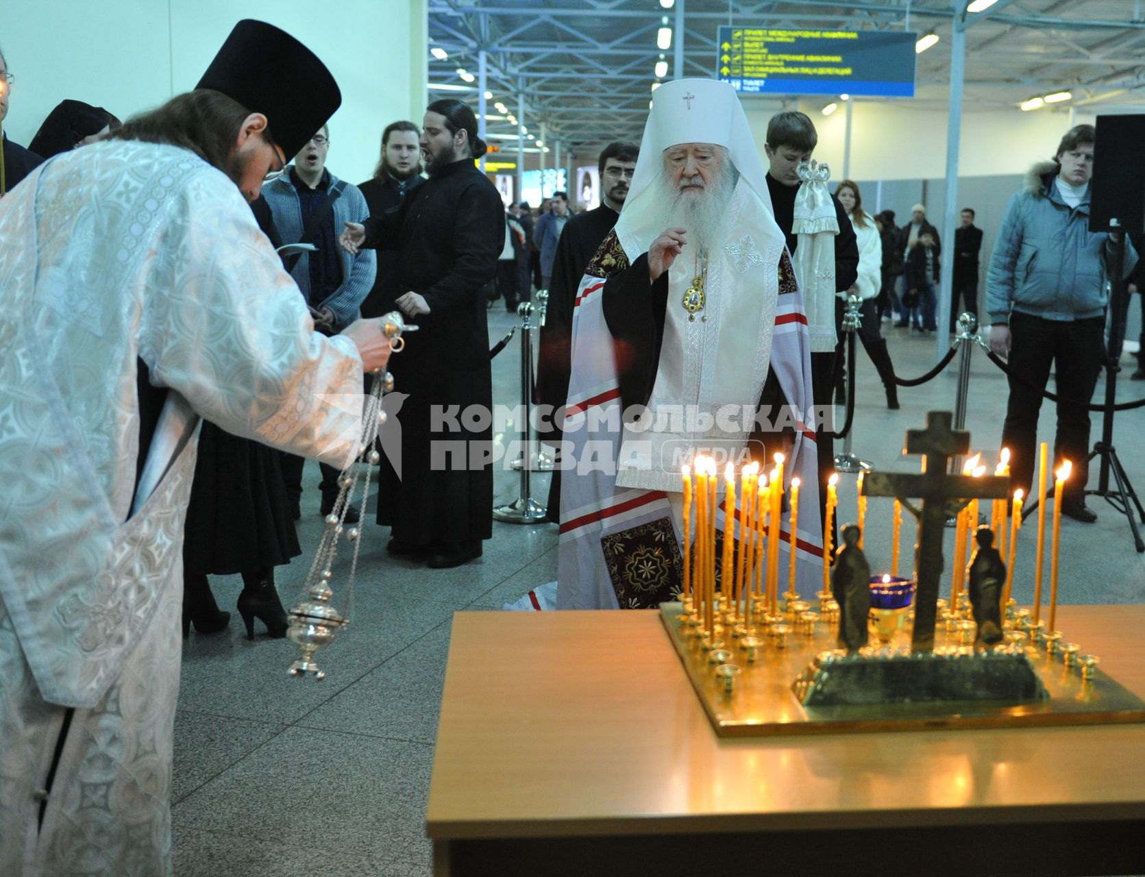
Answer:
MULTIPOLYGON (((418 144, 420 132, 412 121, 392 121, 381 133, 381 157, 373 176, 358 183, 358 191, 365 198, 365 206, 371 216, 380 216, 386 211, 396 211, 406 196, 417 189, 426 179, 421 175, 421 147, 418 144)), ((397 263, 397 252, 394 250, 378 251, 378 272, 374 275, 373 289, 362 302, 363 317, 380 317, 386 313, 381 302, 386 299, 386 289, 394 283, 394 266, 397 263)), ((393 310, 393 298, 388 299, 393 310)))

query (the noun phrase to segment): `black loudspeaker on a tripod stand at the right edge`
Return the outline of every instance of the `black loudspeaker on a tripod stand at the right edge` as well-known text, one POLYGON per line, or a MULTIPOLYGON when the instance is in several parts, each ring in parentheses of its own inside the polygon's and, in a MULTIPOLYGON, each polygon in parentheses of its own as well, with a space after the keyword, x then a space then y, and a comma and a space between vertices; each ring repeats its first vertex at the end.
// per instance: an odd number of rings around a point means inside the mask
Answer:
POLYGON ((1145 231, 1145 116, 1098 116, 1090 231, 1145 231))

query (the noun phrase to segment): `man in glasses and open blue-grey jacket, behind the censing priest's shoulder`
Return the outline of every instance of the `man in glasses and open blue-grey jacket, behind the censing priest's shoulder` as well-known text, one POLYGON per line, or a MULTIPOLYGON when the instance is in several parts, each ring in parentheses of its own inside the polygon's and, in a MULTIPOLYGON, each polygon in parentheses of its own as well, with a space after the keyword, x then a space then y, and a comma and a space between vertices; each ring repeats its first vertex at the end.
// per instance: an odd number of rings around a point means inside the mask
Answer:
MULTIPOLYGON (((338 232, 347 222, 364 222, 370 215, 365 196, 352 183, 326 169, 330 128, 325 125, 294 156, 284 173, 263 187, 284 244, 314 244, 317 250, 287 256, 286 268, 310 306, 314 327, 333 334, 358 317, 358 307, 373 286, 377 253, 362 250, 350 255, 338 245, 338 232)), ((301 457, 284 455, 283 479, 297 521, 302 497, 301 457)), ((338 471, 322 464, 322 505, 327 515, 338 498, 338 471)), ((357 523, 358 509, 346 509, 346 522, 357 523)))

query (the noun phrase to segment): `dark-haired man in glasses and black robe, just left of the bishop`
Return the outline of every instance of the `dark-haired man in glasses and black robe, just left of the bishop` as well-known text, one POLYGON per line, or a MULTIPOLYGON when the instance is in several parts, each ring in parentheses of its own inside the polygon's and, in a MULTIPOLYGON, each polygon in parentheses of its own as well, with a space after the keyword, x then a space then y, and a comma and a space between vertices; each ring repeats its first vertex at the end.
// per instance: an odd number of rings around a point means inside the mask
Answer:
MULTIPOLYGON (((597 166, 605 197, 599 207, 572 216, 556 244, 548 307, 545 325, 540 327, 540 349, 537 354, 537 402, 551 412, 538 425, 543 442, 560 443, 561 432, 552 422, 552 412, 564 404, 569 389, 572 302, 585 266, 621 215, 639 155, 640 148, 635 143, 616 141, 605 147, 597 166)), ((561 471, 554 468, 548 484, 548 520, 560 523, 560 511, 561 471)))

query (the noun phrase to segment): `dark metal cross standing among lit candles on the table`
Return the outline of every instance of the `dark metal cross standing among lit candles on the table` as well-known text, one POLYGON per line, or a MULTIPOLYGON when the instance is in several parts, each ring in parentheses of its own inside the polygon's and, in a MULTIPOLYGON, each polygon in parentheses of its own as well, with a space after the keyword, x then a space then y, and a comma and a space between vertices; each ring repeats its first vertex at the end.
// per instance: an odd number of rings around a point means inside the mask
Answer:
POLYGON ((972 498, 1004 499, 1010 495, 1010 479, 1003 475, 969 477, 947 475, 950 457, 970 450, 970 433, 951 429, 949 411, 929 411, 925 429, 907 430, 907 453, 923 455, 923 472, 868 472, 862 492, 870 497, 898 497, 918 517, 918 548, 915 554, 915 632, 910 647, 915 651, 934 648, 934 622, 938 614, 938 588, 942 578, 942 531, 948 517, 962 511, 972 498), (915 511, 908 497, 922 499, 915 511))

